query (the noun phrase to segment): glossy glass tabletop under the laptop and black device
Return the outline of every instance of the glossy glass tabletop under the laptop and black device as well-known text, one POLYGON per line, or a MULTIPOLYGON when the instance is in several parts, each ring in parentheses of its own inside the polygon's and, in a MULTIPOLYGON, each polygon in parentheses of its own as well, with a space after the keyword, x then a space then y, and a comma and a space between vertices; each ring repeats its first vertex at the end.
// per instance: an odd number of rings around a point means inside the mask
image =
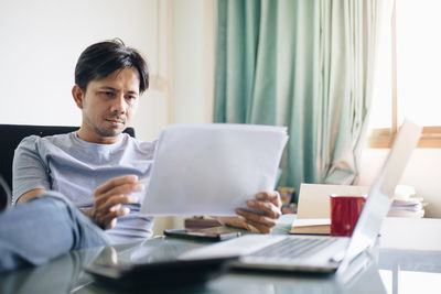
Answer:
MULTIPOLYGON (((283 216, 272 233, 288 233, 293 216, 283 216)), ((394 226, 400 226, 395 221, 394 226)), ((441 219, 435 221, 441 228, 441 219)), ((433 225, 433 224, 432 224, 433 225)), ((390 228, 389 228, 390 229, 390 228)), ((391 229, 390 229, 391 230, 391 229)), ((381 232, 386 235, 387 232, 381 232)), ((429 232, 428 232, 429 233, 429 232)), ((402 242, 409 238, 401 233, 402 242)), ((175 287, 170 284, 143 288, 149 293, 439 293, 441 250, 378 246, 366 252, 366 266, 351 274, 288 274, 281 272, 228 271, 205 283, 175 287)), ((396 240, 399 242, 400 240, 396 240)), ((421 240, 424 242, 424 240, 421 240)), ((154 262, 207 244, 195 240, 157 237, 125 246, 72 251, 39 268, 2 273, 0 293, 126 293, 97 283, 84 269, 92 262, 154 262)), ((417 246, 418 247, 418 246, 417 246)), ((441 246, 439 247, 441 249, 441 246)))

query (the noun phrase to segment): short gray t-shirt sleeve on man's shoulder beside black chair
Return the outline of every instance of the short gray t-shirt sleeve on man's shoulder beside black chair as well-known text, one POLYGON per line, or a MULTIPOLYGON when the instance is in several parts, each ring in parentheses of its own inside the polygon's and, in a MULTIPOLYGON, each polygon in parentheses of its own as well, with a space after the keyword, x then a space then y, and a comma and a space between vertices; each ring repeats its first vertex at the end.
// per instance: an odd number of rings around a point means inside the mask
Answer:
POLYGON ((31 189, 51 189, 49 168, 41 155, 40 140, 37 135, 28 137, 15 149, 12 163, 13 204, 31 189))

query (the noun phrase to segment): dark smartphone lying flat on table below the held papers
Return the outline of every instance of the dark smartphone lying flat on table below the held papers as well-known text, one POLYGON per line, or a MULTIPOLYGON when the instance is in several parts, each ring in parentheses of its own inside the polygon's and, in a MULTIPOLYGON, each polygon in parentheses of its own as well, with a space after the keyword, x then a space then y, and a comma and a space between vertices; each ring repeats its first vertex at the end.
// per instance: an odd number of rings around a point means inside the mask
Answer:
POLYGON ((240 232, 225 227, 214 227, 205 229, 166 229, 164 235, 186 239, 224 241, 239 237, 240 232))

